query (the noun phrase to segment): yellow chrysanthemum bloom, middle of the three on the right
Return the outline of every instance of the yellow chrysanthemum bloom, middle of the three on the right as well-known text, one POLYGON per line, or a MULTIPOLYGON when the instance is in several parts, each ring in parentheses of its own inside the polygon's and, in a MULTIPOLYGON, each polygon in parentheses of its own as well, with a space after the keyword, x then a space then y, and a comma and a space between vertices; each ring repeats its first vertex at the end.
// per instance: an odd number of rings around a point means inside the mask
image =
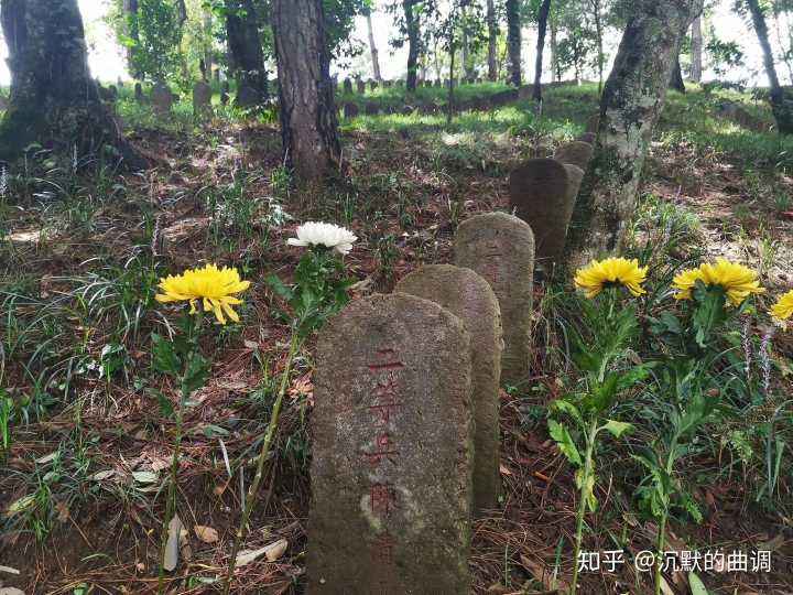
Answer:
POLYGON ((752 293, 765 291, 760 286, 757 272, 743 264, 719 258, 715 263, 706 262, 698 269, 688 269, 675 277, 672 282, 672 286, 677 290, 675 298, 691 300, 697 280, 705 285, 721 288, 734 306, 741 305, 752 293))

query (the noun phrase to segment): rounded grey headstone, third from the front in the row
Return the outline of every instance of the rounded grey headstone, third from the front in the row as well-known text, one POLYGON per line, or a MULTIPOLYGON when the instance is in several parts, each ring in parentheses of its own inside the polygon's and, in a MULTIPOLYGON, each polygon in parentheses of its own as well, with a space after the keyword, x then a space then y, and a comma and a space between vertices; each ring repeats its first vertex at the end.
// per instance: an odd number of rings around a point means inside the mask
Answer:
POLYGON ((507 213, 477 215, 460 224, 454 242, 455 264, 479 273, 501 309, 504 348, 501 378, 518 383, 529 376, 534 234, 507 213))

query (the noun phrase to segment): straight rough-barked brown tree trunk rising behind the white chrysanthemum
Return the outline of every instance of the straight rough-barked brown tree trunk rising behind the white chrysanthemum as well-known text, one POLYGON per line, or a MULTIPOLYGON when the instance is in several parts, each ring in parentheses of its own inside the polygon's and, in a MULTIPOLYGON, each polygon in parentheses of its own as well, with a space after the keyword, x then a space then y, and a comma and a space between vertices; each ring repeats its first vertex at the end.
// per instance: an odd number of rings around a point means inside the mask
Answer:
POLYGON ((341 161, 322 0, 273 0, 284 160, 315 182, 341 161))

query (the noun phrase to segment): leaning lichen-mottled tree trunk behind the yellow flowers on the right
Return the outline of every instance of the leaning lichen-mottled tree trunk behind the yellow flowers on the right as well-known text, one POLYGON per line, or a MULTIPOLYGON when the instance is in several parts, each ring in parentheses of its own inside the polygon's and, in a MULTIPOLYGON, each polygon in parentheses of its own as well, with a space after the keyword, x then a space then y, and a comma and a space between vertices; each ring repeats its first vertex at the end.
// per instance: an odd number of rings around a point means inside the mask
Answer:
POLYGON ((703 0, 637 0, 600 100, 593 156, 576 202, 567 263, 621 248, 681 39, 703 0))

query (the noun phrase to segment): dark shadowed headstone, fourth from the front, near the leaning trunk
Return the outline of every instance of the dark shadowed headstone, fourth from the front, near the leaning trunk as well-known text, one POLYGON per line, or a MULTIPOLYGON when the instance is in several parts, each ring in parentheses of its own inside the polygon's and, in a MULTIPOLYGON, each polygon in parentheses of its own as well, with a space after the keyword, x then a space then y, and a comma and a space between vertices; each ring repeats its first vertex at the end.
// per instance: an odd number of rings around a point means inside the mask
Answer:
POLYGON ((536 262, 545 268, 564 250, 573 213, 569 184, 567 170, 555 159, 531 159, 510 174, 510 206, 534 231, 536 262))

